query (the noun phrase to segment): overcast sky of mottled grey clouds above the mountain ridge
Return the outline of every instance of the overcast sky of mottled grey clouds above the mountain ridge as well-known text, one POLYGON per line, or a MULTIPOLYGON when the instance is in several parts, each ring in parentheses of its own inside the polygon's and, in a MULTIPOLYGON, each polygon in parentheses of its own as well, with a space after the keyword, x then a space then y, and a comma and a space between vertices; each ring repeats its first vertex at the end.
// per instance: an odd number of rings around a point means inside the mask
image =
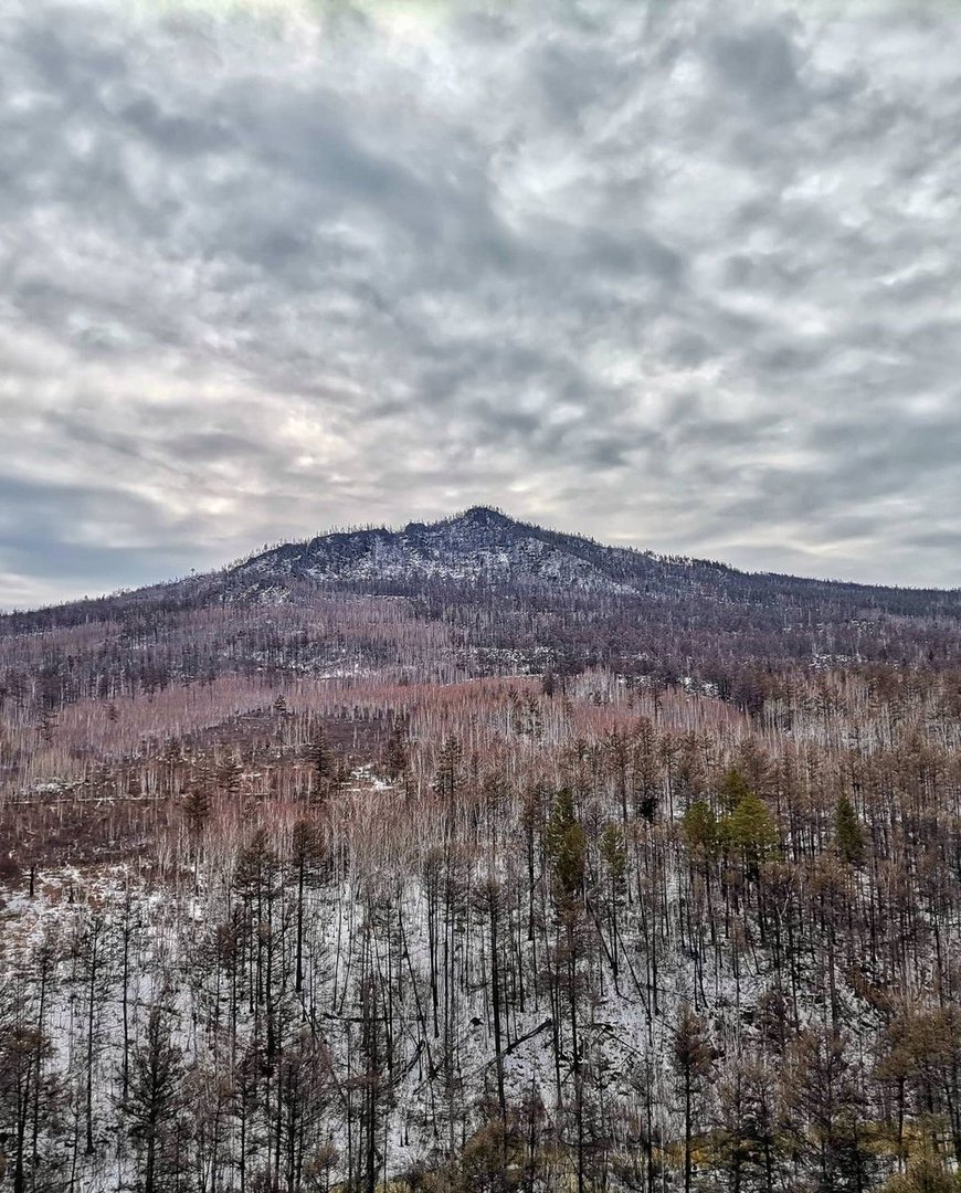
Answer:
POLYGON ((484 502, 961 585, 961 10, 2 0, 0 606, 484 502))

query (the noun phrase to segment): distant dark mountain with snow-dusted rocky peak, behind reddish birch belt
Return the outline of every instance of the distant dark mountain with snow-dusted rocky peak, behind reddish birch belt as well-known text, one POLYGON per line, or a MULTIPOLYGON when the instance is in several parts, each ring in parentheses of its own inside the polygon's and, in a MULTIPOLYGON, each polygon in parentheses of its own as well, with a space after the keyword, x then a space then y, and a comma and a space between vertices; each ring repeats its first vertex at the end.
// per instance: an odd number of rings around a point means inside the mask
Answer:
MULTIPOLYGON (((961 593, 738 571, 603 546, 476 507, 322 534, 221 571, 0 618, 0 685, 43 635, 57 701, 231 674, 683 681, 758 707, 771 675, 961 662, 961 593)), ((30 680, 35 682, 36 679, 30 680)), ((51 696, 54 699, 54 696, 51 696)))

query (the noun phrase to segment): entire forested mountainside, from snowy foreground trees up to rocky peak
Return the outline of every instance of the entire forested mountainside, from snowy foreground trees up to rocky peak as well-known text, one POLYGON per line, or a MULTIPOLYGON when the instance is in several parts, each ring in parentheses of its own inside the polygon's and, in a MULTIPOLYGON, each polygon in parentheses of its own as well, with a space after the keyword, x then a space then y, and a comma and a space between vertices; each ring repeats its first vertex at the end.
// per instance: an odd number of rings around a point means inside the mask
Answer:
POLYGON ((0 1189, 956 1188, 957 594, 391 534, 0 620, 0 1189))

